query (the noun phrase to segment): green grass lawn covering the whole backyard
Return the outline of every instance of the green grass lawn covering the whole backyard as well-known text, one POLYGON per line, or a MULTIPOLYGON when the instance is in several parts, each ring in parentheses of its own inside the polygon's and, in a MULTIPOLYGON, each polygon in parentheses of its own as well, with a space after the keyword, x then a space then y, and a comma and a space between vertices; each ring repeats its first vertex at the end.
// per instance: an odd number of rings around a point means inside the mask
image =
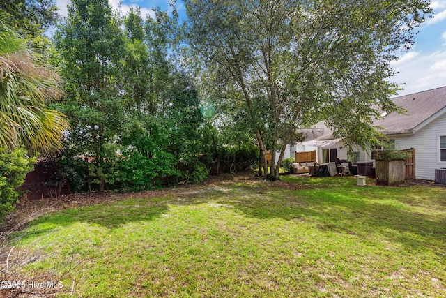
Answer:
POLYGON ((8 262, 38 255, 13 277, 60 278, 56 297, 445 297, 446 188, 355 182, 239 177, 65 209, 13 234, 8 262))

